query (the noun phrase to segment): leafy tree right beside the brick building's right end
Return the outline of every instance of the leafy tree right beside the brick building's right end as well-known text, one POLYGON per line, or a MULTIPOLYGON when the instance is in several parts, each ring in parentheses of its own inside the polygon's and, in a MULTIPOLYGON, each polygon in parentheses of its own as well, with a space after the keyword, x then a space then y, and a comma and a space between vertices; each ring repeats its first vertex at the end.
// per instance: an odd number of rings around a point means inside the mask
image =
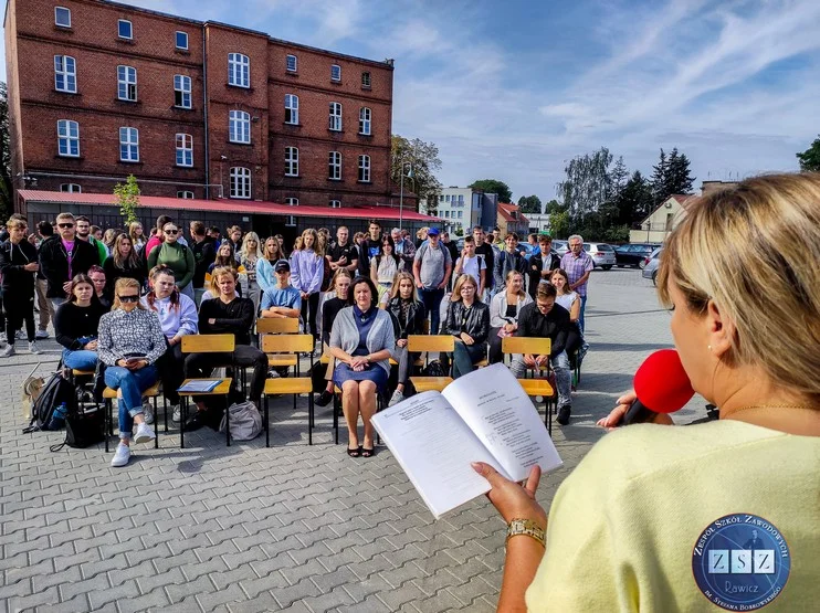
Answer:
POLYGON ((419 138, 408 140, 395 134, 391 142, 390 178, 396 186, 401 183, 402 169, 404 189, 425 199, 428 212, 435 213, 441 192, 441 183, 435 178, 435 172, 441 170, 439 148, 419 138))

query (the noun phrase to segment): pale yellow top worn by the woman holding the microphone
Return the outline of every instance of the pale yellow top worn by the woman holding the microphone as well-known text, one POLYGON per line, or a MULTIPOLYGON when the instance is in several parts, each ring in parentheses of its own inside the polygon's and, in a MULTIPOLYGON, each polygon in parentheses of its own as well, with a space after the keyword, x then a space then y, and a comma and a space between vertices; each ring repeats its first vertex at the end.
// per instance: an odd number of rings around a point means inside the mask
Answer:
POLYGON ((820 437, 733 420, 633 425, 596 444, 556 493, 527 607, 722 611, 693 554, 732 514, 764 518, 788 545, 788 581, 766 611, 820 611, 820 437))

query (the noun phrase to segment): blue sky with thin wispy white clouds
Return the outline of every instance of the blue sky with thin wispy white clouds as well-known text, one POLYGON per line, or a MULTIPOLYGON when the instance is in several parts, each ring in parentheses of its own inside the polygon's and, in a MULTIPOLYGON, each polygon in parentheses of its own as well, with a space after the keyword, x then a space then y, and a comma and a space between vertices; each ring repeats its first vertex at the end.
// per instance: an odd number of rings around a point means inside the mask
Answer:
POLYGON ((797 170, 820 133, 818 0, 125 3, 395 59, 392 133, 439 147, 443 186, 498 179, 514 200, 554 198, 602 146, 644 175, 677 147, 700 188, 797 170))

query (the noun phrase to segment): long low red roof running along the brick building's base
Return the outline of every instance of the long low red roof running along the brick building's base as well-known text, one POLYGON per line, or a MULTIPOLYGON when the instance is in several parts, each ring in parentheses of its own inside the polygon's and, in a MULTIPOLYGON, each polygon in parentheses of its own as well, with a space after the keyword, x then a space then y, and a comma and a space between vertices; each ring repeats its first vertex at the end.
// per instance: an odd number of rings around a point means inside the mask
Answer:
MULTIPOLYGON (((44 202, 50 204, 84 204, 91 207, 118 207, 116 197, 112 193, 64 193, 60 191, 19 190, 19 198, 23 202, 44 202)), ((146 209, 171 209, 176 211, 224 211, 230 207, 234 213, 294 215, 296 218, 326 218, 340 216, 346 219, 380 219, 398 220, 399 209, 393 207, 311 207, 297 204, 277 204, 256 200, 195 200, 169 198, 160 195, 140 195, 139 205, 146 209)), ((404 209, 401 212, 404 221, 437 222, 439 218, 417 213, 404 209)))

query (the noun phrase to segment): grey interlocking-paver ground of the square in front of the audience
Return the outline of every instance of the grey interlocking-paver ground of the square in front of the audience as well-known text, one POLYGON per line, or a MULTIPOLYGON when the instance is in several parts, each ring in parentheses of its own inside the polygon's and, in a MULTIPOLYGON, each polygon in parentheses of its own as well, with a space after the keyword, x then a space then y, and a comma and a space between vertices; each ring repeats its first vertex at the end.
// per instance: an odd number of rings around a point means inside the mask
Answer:
MULTIPOLYGON (((671 346, 669 314, 637 271, 591 277, 591 350, 572 422, 553 437, 565 467, 603 433, 595 421, 628 389, 651 351, 671 346)), ((39 372, 54 368, 57 345, 39 372)), ((38 362, 0 364, 0 603, 8 612, 57 611, 494 611, 504 525, 484 498, 434 521, 386 448, 370 459, 334 445, 329 408, 317 408, 307 445, 306 402, 272 401, 264 436, 225 447, 203 429, 179 450, 176 427, 159 450, 134 445, 111 468, 103 445, 49 445, 63 433, 21 434, 20 384, 38 362)), ((693 400, 680 414, 703 415, 693 400)))

